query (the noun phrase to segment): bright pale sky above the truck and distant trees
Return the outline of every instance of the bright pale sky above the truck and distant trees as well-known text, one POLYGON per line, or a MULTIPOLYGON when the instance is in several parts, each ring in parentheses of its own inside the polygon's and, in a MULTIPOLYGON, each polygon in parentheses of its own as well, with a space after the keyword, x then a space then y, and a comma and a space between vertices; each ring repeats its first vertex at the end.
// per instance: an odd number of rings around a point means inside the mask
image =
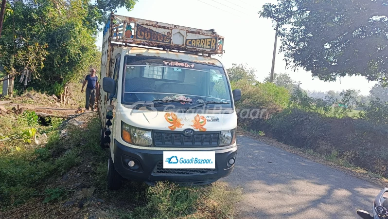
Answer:
MULTIPOLYGON (((225 37, 220 60, 226 68, 233 63, 244 63, 256 69, 258 81, 263 81, 271 72, 275 30, 272 22, 259 18, 258 12, 263 4, 276 0, 139 0, 134 9, 128 12, 119 8, 117 15, 148 19, 198 29, 214 29, 225 37)), ((97 46, 102 45, 102 33, 97 46)), ((279 53, 280 41, 275 62, 276 73, 289 73, 291 79, 300 81, 300 87, 310 91, 360 90, 360 94, 369 95, 376 82, 368 82, 360 76, 344 77, 336 82, 323 82, 313 78, 311 73, 299 69, 285 69, 284 56, 279 53)))

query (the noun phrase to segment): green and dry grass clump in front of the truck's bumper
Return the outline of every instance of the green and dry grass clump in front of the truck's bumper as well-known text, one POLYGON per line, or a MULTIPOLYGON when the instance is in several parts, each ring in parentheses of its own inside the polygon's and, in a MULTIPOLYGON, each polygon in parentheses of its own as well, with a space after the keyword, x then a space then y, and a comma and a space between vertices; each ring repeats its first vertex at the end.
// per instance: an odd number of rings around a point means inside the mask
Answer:
POLYGON ((241 200, 240 189, 225 184, 213 186, 178 187, 159 182, 145 188, 145 201, 121 219, 232 219, 234 204, 241 200))

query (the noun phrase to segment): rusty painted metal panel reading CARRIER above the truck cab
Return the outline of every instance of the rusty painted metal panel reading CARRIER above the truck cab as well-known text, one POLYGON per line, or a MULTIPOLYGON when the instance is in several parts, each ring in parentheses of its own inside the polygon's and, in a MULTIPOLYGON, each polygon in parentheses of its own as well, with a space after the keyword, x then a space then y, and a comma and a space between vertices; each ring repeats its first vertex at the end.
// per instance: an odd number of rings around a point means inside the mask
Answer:
POLYGON ((202 55, 224 53, 224 37, 214 30, 161 23, 157 21, 112 15, 112 42, 123 46, 148 47, 202 55))

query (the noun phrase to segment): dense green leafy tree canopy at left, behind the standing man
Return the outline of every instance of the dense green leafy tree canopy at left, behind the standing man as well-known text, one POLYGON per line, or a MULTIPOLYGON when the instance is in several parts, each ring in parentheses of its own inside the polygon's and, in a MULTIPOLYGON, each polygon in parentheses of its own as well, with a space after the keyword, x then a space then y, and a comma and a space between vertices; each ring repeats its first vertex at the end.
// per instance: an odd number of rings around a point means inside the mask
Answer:
POLYGON ((3 74, 28 69, 29 86, 36 90, 63 88, 97 67, 96 36, 109 12, 122 6, 130 10, 136 1, 9 0, 0 37, 3 74))

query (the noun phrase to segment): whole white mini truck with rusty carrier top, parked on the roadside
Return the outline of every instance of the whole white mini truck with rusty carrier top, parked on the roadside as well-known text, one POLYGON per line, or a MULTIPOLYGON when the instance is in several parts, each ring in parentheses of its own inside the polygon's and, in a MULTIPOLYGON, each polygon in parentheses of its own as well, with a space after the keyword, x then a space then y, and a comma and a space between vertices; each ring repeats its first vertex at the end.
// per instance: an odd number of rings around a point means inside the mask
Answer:
POLYGON ((223 44, 214 30, 110 15, 98 95, 110 189, 123 178, 209 184, 233 171, 241 90, 211 58, 223 44))

